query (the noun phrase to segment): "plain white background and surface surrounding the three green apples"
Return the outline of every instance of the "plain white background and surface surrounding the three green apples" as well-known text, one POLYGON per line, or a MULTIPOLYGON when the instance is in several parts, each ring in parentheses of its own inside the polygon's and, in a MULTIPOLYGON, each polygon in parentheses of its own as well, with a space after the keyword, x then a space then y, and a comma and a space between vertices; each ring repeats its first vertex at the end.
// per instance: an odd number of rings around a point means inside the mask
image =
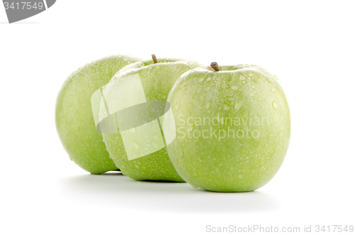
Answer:
POLYGON ((355 225, 354 9, 354 1, 59 0, 9 24, 0 6, 0 234, 355 225), (256 192, 216 193, 77 167, 55 130, 56 96, 77 67, 116 53, 251 63, 277 75, 292 114, 278 174, 256 192))

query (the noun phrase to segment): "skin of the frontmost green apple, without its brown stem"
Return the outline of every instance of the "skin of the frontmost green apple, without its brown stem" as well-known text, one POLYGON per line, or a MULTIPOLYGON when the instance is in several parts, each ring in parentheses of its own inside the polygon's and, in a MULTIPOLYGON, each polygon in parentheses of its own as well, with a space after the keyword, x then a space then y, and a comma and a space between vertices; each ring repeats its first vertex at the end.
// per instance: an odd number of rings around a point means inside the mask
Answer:
POLYGON ((168 145, 168 154, 193 187, 253 191, 271 180, 285 158, 290 141, 288 102, 276 77, 261 67, 221 70, 190 70, 170 91, 177 137, 168 145))

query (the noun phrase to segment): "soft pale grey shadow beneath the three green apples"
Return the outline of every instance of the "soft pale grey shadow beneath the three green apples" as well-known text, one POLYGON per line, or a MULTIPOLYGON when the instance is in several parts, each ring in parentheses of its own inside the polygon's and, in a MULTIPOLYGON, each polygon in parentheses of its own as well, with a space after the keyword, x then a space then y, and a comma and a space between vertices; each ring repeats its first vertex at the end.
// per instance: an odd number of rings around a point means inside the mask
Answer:
POLYGON ((60 180, 60 192, 75 203, 183 214, 271 212, 281 207, 266 192, 209 192, 183 182, 138 182, 121 173, 67 177, 60 180))

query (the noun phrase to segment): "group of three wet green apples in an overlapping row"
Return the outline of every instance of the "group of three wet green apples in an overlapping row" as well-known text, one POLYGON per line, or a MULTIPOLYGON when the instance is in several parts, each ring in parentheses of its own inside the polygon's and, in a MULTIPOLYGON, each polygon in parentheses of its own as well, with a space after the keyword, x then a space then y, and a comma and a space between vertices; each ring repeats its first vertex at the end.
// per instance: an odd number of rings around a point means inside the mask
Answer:
POLYGON ((155 55, 80 67, 60 89, 55 124, 70 159, 89 173, 118 170, 214 192, 266 185, 290 141, 288 102, 274 75, 155 55))

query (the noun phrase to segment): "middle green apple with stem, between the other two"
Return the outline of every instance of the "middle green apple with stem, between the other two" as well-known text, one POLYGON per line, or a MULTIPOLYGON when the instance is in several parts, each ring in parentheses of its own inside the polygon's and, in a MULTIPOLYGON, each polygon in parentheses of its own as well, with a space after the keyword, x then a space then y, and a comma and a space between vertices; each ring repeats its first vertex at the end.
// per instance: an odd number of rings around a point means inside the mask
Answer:
POLYGON ((189 60, 157 61, 153 55, 153 60, 122 68, 107 84, 99 116, 102 122, 110 117, 111 121, 108 129, 102 125, 102 134, 110 157, 124 175, 184 182, 168 157, 160 121, 178 77, 199 66, 189 60))

